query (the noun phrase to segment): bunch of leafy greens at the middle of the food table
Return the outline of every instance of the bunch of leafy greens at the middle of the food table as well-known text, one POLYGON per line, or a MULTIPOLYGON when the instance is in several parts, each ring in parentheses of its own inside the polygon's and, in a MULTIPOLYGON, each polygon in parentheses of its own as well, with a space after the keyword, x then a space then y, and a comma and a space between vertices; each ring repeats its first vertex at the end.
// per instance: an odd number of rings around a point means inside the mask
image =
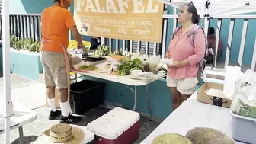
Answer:
POLYGON ((140 59, 136 58, 134 60, 123 59, 120 66, 117 67, 117 75, 125 76, 129 75, 131 70, 144 70, 144 66, 140 59))

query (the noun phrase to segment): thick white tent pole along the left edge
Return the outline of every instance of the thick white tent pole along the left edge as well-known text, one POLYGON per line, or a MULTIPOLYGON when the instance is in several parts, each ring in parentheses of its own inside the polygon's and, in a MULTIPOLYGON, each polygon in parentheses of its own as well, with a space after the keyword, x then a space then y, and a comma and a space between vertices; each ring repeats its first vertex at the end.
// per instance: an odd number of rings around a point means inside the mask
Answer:
POLYGON ((3 73, 4 73, 4 104, 5 104, 5 144, 10 143, 11 117, 11 74, 10 74, 10 33, 9 33, 9 1, 2 0, 3 27, 3 73))

